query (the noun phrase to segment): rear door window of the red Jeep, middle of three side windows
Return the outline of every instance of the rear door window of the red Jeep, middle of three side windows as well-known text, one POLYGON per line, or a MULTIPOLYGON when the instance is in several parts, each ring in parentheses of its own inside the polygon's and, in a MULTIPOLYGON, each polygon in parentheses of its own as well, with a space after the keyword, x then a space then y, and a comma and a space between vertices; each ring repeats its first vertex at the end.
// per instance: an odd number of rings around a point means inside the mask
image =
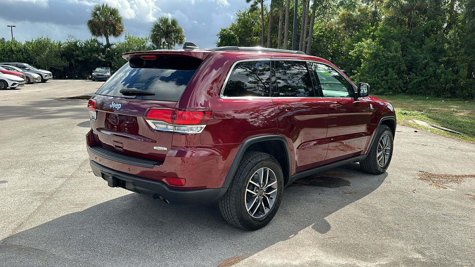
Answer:
POLYGON ((274 61, 273 97, 314 97, 312 80, 304 61, 274 61))

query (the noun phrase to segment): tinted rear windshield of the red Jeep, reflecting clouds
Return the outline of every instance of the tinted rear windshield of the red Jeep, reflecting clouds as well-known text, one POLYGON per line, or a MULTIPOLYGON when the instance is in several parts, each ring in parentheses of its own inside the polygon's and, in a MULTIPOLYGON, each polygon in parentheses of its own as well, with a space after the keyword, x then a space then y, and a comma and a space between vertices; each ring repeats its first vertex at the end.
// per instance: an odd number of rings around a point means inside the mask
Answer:
POLYGON ((97 90, 96 94, 135 99, 178 101, 202 62, 199 60, 199 64, 196 64, 196 59, 186 57, 158 58, 156 63, 146 64, 145 67, 131 67, 127 62, 97 90), (190 64, 190 61, 193 61, 194 64, 190 64), (168 62, 170 64, 167 64, 168 62), (190 65, 193 65, 193 69, 189 69, 190 65), (186 70, 182 70, 183 68, 186 70), (127 93, 123 95, 120 91, 125 89, 143 90, 155 95, 131 95, 127 93))

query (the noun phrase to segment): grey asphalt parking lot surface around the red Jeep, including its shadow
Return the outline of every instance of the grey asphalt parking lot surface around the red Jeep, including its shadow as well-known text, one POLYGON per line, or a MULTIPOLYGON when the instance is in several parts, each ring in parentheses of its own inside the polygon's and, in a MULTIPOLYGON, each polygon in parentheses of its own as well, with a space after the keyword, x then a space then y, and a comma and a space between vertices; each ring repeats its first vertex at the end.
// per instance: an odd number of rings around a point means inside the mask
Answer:
POLYGON ((447 189, 416 179, 474 174, 473 144, 398 126, 387 172, 352 163, 297 181, 273 221, 249 232, 217 204, 166 204, 94 176, 87 101, 66 97, 102 84, 0 91, 0 266, 475 266, 475 200, 464 194, 475 179, 447 189))

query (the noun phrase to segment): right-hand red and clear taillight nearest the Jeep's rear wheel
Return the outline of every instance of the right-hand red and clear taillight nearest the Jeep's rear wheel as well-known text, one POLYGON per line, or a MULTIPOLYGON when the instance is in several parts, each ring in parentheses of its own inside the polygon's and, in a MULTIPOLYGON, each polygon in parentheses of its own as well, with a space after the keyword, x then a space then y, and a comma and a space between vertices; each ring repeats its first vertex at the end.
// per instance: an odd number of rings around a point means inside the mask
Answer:
POLYGON ((209 119, 210 110, 150 109, 145 120, 155 130, 183 134, 199 134, 209 119))

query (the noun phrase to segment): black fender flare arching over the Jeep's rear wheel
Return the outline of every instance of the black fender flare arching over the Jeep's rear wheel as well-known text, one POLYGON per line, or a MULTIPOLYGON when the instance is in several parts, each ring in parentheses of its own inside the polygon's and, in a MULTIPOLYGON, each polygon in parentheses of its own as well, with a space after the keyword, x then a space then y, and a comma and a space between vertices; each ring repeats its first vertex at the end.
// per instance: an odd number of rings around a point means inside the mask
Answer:
MULTIPOLYGON (((244 141, 244 143, 241 144, 239 147, 239 150, 237 151, 236 157, 233 160, 233 163, 231 164, 231 168, 229 168, 228 175, 226 176, 226 179, 224 180, 223 183, 223 188, 229 188, 231 185, 231 181, 233 180, 234 174, 237 171, 237 166, 239 165, 239 162, 242 159, 242 156, 246 152, 247 148, 253 144, 253 143, 259 143, 263 141, 270 141, 270 140, 277 140, 280 141, 284 145, 284 151, 285 151, 285 159, 287 163, 287 170, 290 173, 290 150, 289 146, 287 144, 287 140, 285 140, 285 137, 282 135, 278 134, 270 134, 270 135, 261 135, 261 136, 256 136, 256 137, 251 137, 244 141)), ((284 177, 285 179, 286 177, 284 177)))

